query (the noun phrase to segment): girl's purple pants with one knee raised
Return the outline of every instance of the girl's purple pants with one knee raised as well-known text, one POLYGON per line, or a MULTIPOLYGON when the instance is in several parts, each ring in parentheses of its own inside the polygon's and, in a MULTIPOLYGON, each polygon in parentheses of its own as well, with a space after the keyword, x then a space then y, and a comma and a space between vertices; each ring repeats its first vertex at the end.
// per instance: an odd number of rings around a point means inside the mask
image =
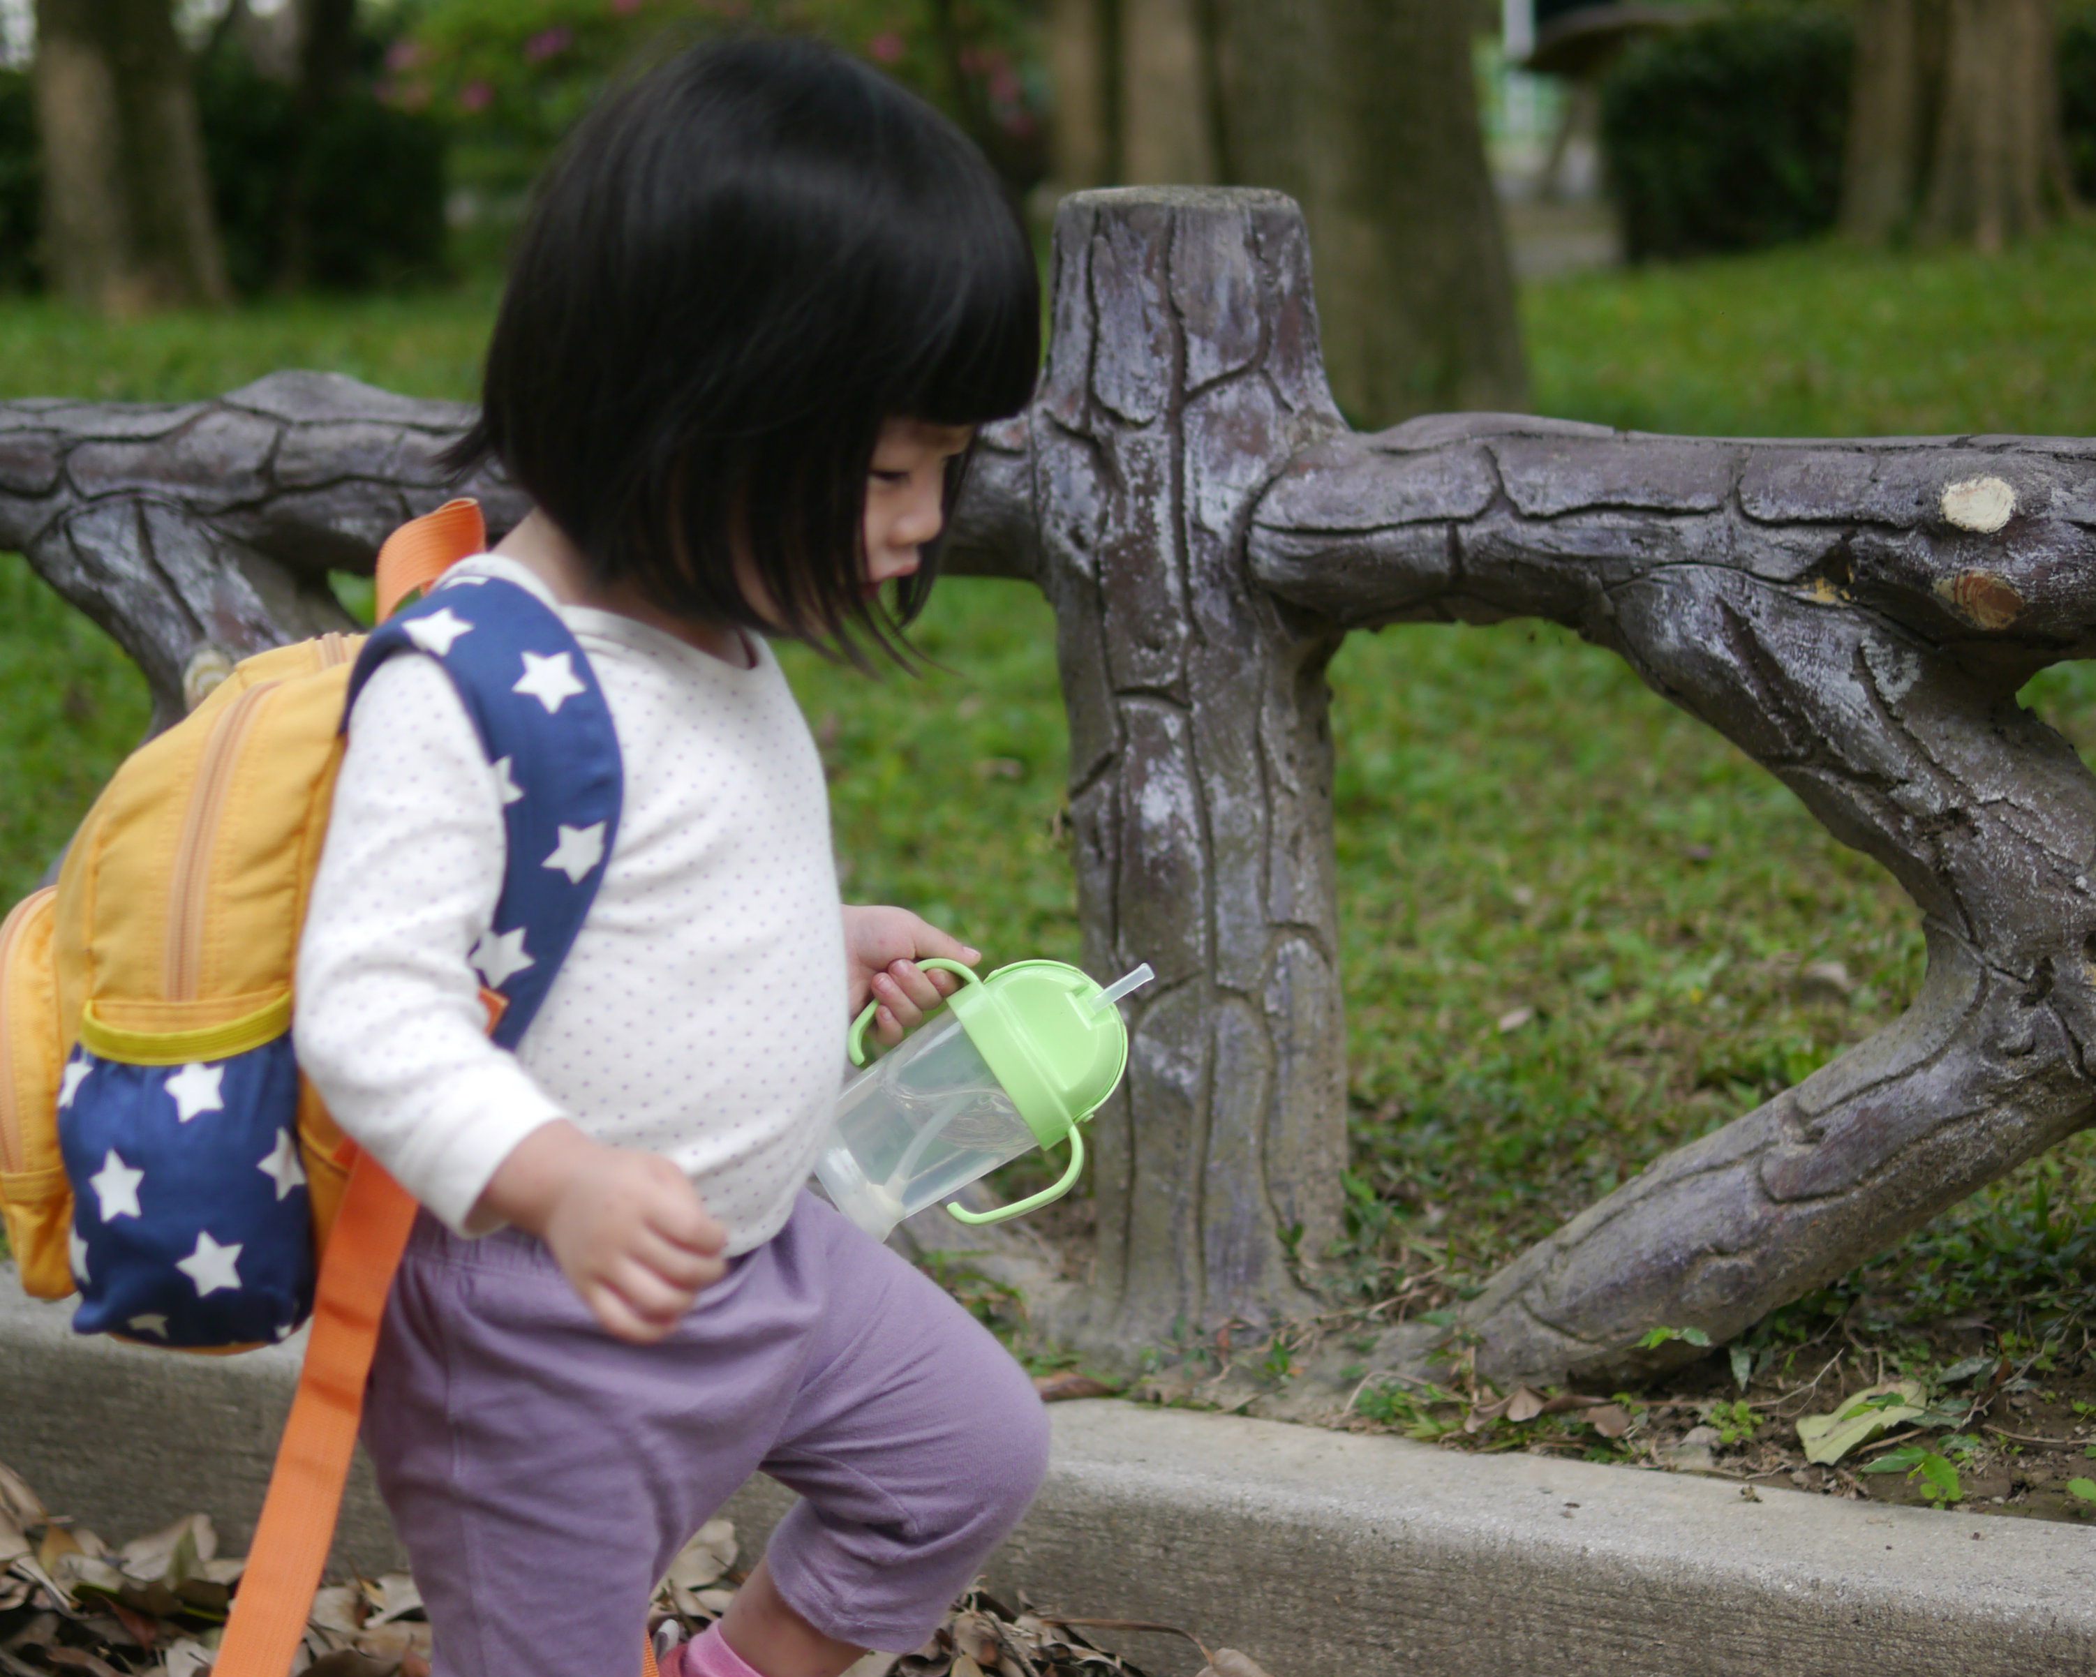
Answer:
POLYGON ((436 1677, 633 1677, 650 1591, 757 1469, 803 1497, 771 1534, 780 1593, 916 1648, 1025 1513, 1048 1423, 966 1310, 803 1193, 652 1346, 604 1333, 537 1239, 423 1216, 365 1446, 436 1677))

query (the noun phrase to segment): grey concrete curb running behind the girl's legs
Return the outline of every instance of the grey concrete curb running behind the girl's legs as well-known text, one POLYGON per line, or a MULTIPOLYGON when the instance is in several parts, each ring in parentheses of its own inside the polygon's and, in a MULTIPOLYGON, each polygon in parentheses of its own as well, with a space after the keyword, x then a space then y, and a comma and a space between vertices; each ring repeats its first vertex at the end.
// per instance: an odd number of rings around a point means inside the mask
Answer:
MULTIPOLYGON (((296 1348, 78 1340, 0 1279, 0 1461, 109 1537, 245 1545, 296 1348)), ((1243 1648, 1274 1677, 2035 1677, 2096 1671, 2096 1532, 1092 1400, 989 1581, 1243 1648), (1981 1532, 1974 1541, 1972 1532, 1981 1532)), ((750 1551, 786 1497, 727 1509, 750 1551)), ((396 1560, 369 1476, 337 1564, 396 1560)), ((1186 1641, 1107 1637, 1161 1673, 1186 1641)))

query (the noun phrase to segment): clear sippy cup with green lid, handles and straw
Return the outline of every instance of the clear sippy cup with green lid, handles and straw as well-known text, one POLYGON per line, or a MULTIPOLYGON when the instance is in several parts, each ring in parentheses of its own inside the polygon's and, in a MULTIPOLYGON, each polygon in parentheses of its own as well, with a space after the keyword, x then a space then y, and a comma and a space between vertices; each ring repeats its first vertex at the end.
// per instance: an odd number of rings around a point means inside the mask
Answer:
MULTIPOLYGON (((977 1176, 1035 1147, 1069 1138, 1061 1180, 1017 1205, 968 1212, 962 1222, 1004 1222, 1061 1199, 1084 1170, 1077 1124, 1121 1082, 1128 1029, 1115 1006, 1149 983, 1149 964, 1100 989, 1061 960, 1021 960, 979 979, 958 960, 933 956, 962 985, 947 1012, 916 1029, 836 1101, 836 1119, 815 1161, 830 1203, 876 1241, 908 1216, 958 1193, 977 1176)), ((853 1021, 853 1065, 866 1065, 874 1002, 853 1021)))

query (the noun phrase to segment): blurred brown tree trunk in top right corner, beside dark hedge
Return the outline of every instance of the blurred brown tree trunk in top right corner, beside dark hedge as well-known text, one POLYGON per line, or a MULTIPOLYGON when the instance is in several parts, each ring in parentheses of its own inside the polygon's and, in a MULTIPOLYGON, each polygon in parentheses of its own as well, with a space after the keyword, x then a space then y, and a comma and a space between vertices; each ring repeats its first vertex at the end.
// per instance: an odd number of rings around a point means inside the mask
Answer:
POLYGON ((2073 203, 2050 0, 1859 0, 1842 231, 1981 249, 2073 203))

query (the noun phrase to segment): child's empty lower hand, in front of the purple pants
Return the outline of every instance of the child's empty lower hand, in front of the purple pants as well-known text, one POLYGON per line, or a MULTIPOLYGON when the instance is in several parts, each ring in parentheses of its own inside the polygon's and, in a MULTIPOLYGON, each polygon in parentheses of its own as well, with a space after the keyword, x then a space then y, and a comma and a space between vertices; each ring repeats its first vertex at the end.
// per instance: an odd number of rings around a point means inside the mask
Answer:
POLYGON ((700 1287, 727 1272, 727 1230, 677 1166, 606 1147, 572 1124, 545 1124, 518 1142, 474 1220, 543 1239, 604 1331, 637 1346, 669 1333, 700 1287))

